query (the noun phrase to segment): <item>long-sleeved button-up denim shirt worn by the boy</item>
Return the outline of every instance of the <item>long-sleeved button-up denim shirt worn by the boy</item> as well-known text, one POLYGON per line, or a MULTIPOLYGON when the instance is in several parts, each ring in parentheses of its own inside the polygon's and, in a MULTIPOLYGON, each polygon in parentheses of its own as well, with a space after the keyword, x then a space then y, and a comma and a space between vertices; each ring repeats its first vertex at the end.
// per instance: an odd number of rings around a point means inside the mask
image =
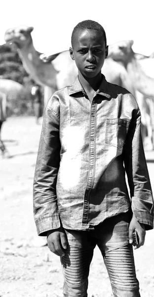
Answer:
POLYGON ((134 97, 103 75, 92 102, 78 77, 55 92, 44 111, 34 178, 38 234, 61 225, 93 229, 130 208, 152 229, 153 203, 134 97))

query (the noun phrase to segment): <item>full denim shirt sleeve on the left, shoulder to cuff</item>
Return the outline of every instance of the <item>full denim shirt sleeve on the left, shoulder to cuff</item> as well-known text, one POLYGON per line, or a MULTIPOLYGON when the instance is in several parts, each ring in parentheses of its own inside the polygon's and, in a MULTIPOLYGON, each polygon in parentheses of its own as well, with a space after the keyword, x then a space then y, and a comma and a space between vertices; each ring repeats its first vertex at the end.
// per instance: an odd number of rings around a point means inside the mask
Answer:
POLYGON ((44 111, 34 176, 34 218, 40 236, 60 227, 56 196, 61 148, 58 108, 58 99, 52 97, 44 111))

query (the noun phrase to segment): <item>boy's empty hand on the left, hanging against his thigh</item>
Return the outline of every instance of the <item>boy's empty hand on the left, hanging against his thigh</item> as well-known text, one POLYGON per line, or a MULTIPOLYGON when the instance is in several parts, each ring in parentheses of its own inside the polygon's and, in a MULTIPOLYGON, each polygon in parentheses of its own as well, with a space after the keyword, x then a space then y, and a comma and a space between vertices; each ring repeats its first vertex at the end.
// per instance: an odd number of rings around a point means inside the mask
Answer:
POLYGON ((48 248, 57 256, 64 256, 67 248, 66 234, 62 227, 47 232, 48 248))

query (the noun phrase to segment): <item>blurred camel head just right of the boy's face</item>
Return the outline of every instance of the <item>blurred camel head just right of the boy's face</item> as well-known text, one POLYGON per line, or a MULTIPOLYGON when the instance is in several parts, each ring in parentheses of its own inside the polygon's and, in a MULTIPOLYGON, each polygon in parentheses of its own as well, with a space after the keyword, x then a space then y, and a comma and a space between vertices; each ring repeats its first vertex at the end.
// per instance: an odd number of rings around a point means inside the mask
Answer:
POLYGON ((133 40, 124 40, 116 42, 109 46, 109 57, 115 61, 126 62, 133 54, 132 50, 133 40))

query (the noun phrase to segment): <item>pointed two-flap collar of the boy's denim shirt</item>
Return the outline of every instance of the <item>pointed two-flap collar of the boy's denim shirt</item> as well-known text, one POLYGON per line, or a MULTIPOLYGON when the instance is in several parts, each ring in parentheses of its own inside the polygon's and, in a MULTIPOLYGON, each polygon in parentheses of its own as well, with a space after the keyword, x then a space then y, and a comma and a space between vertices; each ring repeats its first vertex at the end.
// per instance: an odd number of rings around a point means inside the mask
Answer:
MULTIPOLYGON (((79 82, 79 79, 78 79, 78 75, 77 75, 77 78, 76 78, 75 82, 73 83, 72 88, 69 90, 69 96, 72 96, 72 95, 74 95, 76 93, 79 93, 79 92, 82 92, 85 95, 84 89, 81 86, 81 84, 79 82)), ((96 91, 95 96, 96 96, 96 94, 105 96, 108 99, 111 98, 111 94, 109 92, 108 82, 106 81, 105 76, 103 74, 102 74, 101 85, 100 85, 99 89, 96 91)))

